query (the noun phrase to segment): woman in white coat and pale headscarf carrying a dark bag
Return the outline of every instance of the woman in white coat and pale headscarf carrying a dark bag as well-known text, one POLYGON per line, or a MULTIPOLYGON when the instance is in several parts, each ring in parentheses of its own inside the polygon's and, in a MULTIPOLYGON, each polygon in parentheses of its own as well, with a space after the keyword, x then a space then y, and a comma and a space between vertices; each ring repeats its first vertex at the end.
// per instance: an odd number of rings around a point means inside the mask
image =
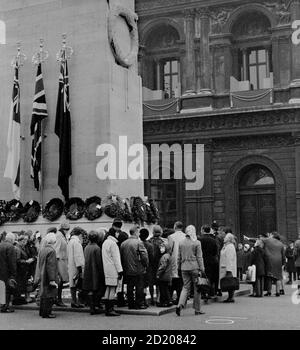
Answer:
MULTIPOLYGON (((220 254, 220 281, 230 273, 233 277, 237 276, 235 244, 234 235, 232 233, 227 233, 220 254)), ((234 290, 228 291, 228 299, 224 300, 224 303, 234 303, 234 290)))

